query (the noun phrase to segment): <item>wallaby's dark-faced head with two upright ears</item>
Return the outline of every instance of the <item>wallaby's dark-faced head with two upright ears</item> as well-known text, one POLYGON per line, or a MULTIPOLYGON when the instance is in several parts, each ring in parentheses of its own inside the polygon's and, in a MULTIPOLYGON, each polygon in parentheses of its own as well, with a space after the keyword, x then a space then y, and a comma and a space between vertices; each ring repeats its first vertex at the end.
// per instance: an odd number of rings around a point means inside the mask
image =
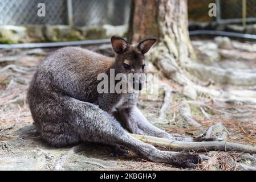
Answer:
POLYGON ((156 38, 148 38, 140 43, 129 45, 123 38, 112 36, 111 44, 115 51, 115 72, 123 73, 132 83, 133 89, 141 90, 145 79, 145 53, 156 42, 156 38), (133 75, 133 78, 131 78, 133 75), (129 76, 129 77, 128 77, 129 76), (132 80, 131 80, 132 79, 132 80))

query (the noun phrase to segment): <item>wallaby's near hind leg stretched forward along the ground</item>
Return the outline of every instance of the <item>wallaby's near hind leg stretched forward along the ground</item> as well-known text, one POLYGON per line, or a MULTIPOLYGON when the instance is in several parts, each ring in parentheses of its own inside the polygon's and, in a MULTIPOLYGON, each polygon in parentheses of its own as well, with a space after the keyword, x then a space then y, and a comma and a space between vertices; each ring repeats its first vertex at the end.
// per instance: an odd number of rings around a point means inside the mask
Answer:
POLYGON ((136 152, 144 159, 173 166, 193 167, 201 160, 208 159, 201 155, 160 151, 151 144, 141 142, 129 135, 115 118, 96 105, 74 101, 72 108, 72 127, 84 141, 118 144, 136 152))

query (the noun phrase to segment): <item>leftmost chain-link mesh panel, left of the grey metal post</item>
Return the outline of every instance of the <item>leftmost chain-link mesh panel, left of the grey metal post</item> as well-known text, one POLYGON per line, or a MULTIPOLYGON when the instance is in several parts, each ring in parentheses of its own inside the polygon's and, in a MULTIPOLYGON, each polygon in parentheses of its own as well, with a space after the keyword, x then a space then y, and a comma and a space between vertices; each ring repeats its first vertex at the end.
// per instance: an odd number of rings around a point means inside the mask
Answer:
POLYGON ((67 24, 66 0, 0 0, 0 25, 67 24), (46 16, 39 17, 38 3, 46 5, 46 16))

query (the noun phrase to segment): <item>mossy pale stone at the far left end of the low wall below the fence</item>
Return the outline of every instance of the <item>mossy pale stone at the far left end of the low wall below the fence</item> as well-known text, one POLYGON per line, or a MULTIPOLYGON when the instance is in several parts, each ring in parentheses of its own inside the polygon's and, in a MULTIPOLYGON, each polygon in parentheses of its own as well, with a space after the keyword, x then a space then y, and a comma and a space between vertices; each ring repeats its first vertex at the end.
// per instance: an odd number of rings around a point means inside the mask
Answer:
POLYGON ((26 28, 20 26, 0 26, 0 43, 21 43, 26 39, 26 28))

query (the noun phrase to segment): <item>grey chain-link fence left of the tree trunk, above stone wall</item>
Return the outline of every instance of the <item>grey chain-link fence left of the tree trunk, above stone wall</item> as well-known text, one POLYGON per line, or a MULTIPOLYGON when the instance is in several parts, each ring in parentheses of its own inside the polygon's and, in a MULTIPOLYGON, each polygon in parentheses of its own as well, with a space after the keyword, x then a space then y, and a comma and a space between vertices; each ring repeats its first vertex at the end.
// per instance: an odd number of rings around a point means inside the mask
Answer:
POLYGON ((68 24, 74 26, 125 24, 131 0, 0 0, 0 25, 68 24), (38 4, 46 6, 46 16, 39 17, 38 4), (71 6, 71 7, 68 7, 71 6), (72 14, 68 14, 68 9, 72 14))

